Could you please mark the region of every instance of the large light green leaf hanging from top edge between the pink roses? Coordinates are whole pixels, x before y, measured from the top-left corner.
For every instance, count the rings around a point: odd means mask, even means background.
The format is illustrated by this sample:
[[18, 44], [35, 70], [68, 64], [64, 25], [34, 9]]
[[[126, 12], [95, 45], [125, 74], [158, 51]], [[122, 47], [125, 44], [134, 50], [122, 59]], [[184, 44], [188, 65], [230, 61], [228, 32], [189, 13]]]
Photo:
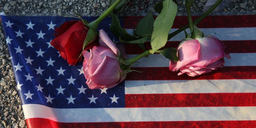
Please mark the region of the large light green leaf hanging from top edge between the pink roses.
[[172, 0], [164, 0], [163, 9], [154, 21], [154, 30], [151, 37], [153, 53], [166, 45], [176, 13], [177, 4]]

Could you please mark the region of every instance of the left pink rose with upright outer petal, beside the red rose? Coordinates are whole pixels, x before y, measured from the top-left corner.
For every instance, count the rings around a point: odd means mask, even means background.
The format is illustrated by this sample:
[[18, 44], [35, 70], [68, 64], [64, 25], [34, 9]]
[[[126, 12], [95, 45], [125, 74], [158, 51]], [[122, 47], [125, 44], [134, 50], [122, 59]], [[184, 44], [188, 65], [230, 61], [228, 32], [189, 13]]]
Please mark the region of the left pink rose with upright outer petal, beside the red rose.
[[90, 89], [112, 88], [124, 80], [119, 66], [120, 51], [104, 30], [99, 31], [99, 46], [84, 50], [83, 70]]

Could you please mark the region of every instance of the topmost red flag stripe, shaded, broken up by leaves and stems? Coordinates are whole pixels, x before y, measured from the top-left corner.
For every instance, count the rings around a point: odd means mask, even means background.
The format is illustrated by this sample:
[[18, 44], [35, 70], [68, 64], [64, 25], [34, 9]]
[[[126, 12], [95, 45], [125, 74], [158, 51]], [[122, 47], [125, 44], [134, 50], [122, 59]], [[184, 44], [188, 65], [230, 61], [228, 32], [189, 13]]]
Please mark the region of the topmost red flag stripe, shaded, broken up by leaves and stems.
[[[135, 29], [142, 16], [124, 17], [124, 28]], [[197, 19], [199, 16], [192, 16]], [[196, 26], [199, 28], [238, 28], [256, 27], [256, 15], [215, 15], [207, 16]], [[176, 16], [172, 28], [179, 29], [188, 24], [187, 16]]]

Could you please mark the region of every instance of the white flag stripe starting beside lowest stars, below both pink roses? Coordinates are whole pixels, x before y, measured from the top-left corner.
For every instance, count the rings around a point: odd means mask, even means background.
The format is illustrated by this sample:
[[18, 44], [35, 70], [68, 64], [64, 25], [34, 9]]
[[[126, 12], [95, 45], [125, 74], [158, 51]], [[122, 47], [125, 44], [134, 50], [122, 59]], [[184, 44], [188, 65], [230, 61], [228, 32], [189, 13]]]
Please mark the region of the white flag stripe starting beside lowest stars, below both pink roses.
[[125, 94], [256, 93], [256, 79], [126, 80]]

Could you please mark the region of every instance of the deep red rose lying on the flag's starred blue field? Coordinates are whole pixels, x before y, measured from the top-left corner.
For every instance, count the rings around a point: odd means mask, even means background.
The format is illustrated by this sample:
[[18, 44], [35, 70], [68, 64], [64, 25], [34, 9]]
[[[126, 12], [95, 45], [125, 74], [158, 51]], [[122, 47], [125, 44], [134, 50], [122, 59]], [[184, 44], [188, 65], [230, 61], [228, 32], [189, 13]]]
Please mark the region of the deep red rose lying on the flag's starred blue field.
[[[51, 45], [60, 52], [68, 64], [75, 65], [82, 60], [83, 44], [89, 28], [79, 20], [64, 22], [59, 28], [55, 28], [55, 39]], [[88, 44], [85, 50], [97, 45], [97, 39]], [[81, 55], [81, 56], [80, 56]]]

